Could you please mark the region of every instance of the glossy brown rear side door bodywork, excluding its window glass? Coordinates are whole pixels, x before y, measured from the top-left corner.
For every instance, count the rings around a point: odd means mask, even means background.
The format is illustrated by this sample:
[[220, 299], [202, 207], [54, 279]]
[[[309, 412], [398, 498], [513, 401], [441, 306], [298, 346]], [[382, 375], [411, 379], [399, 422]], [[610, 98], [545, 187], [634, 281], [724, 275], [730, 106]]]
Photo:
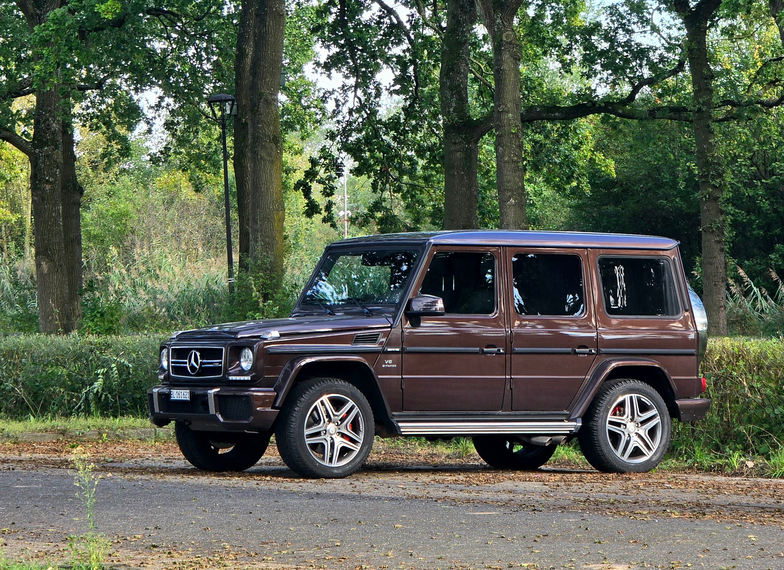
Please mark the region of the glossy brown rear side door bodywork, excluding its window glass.
[[548, 249], [547, 254], [569, 254], [580, 259], [585, 306], [579, 316], [520, 315], [514, 309], [512, 259], [517, 254], [543, 250], [506, 247], [506, 287], [512, 331], [512, 409], [565, 411], [585, 381], [597, 354], [597, 330], [588, 252], [583, 249]]

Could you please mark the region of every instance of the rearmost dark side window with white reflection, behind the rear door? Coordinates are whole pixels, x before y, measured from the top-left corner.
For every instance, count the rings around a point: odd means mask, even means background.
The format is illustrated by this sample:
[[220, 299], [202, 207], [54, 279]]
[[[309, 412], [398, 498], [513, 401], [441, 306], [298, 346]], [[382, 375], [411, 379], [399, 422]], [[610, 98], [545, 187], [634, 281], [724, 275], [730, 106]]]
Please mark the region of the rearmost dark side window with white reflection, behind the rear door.
[[619, 316], [677, 316], [673, 270], [665, 258], [599, 258], [604, 310]]

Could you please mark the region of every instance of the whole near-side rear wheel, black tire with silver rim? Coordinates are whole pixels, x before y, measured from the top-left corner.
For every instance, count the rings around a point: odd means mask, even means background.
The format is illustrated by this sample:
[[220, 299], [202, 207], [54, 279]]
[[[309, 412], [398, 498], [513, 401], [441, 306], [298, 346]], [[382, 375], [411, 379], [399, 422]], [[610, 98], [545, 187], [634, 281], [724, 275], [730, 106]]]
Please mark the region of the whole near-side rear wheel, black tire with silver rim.
[[[634, 400], [624, 402], [622, 399], [626, 396]], [[646, 414], [652, 414], [654, 408], [658, 413], [658, 425], [655, 424], [655, 415], [637, 421]], [[630, 411], [628, 419], [627, 411]], [[611, 414], [615, 419], [608, 422]], [[612, 429], [608, 427], [611, 423]], [[659, 465], [670, 449], [671, 424], [662, 396], [651, 385], [619, 378], [601, 385], [583, 415], [583, 426], [577, 433], [577, 439], [583, 455], [597, 470], [604, 473], [644, 473]], [[619, 451], [616, 452], [616, 449]], [[624, 459], [624, 455], [628, 455], [629, 459]]]

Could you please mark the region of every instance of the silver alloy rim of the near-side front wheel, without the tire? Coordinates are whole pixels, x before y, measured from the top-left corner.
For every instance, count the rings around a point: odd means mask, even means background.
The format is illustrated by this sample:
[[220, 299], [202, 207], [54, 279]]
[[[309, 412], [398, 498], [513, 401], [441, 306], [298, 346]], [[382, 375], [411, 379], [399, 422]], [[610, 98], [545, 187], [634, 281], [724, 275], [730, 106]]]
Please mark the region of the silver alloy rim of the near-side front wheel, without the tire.
[[365, 422], [354, 400], [342, 394], [321, 396], [305, 418], [305, 444], [310, 455], [328, 467], [346, 465], [365, 440]]

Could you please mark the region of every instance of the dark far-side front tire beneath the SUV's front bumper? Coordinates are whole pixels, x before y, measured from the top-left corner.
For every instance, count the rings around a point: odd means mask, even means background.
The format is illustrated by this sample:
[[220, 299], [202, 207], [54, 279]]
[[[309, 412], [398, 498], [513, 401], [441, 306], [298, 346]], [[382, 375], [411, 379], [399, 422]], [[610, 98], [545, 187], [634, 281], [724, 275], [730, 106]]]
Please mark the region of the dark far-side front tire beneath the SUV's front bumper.
[[271, 433], [201, 432], [185, 422], [174, 424], [174, 434], [185, 459], [205, 471], [245, 471], [256, 465]]

